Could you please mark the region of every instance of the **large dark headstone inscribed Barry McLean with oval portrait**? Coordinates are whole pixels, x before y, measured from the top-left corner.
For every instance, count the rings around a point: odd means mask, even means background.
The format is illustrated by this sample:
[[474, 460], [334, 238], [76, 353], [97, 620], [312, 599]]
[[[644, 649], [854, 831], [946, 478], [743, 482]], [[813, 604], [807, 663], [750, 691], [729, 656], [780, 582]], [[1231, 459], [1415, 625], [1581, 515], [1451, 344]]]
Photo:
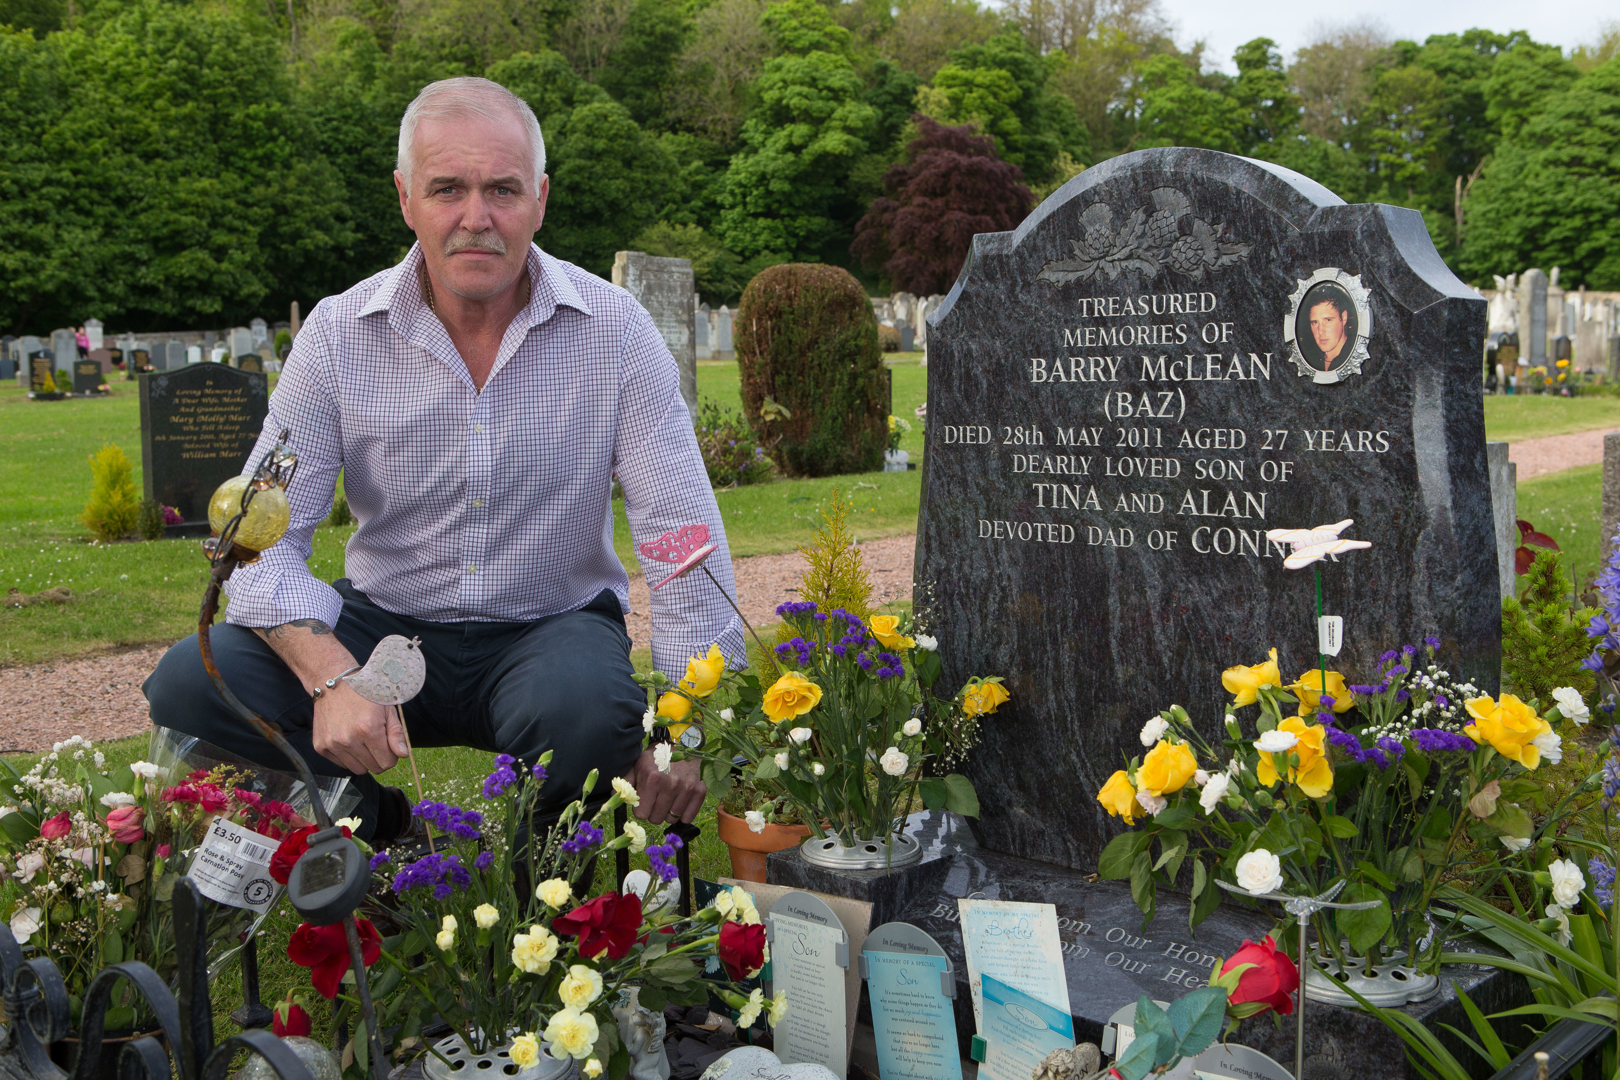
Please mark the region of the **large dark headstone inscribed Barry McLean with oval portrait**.
[[969, 764], [985, 847], [1095, 870], [1145, 719], [1218, 740], [1223, 669], [1314, 665], [1312, 573], [1267, 529], [1372, 542], [1322, 568], [1351, 682], [1434, 635], [1495, 693], [1484, 321], [1414, 210], [1213, 151], [1111, 159], [974, 238], [930, 316], [917, 585], [943, 685], [1013, 695]]

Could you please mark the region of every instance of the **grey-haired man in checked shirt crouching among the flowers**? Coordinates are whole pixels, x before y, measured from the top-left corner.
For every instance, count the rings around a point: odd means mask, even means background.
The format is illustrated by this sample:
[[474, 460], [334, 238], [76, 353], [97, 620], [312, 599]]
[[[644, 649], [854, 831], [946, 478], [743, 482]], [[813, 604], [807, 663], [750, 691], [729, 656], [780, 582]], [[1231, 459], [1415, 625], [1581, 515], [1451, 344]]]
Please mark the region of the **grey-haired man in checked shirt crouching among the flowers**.
[[[659, 772], [642, 750], [614, 478], [637, 541], [706, 523], [719, 544], [708, 565], [729, 589], [726, 534], [651, 317], [533, 243], [544, 167], [539, 123], [510, 91], [473, 78], [423, 89], [400, 121], [394, 173], [416, 244], [309, 313], [248, 458], [251, 470], [292, 431], [292, 526], [237, 570], [214, 654], [314, 772], [355, 780], [358, 834], [376, 845], [410, 831], [405, 795], [373, 776], [405, 756], [407, 730], [413, 746], [526, 763], [554, 750], [543, 814], [575, 798], [590, 769], [629, 776], [650, 821], [692, 821], [703, 803], [697, 763]], [[340, 470], [360, 528], [348, 576], [326, 585], [306, 559]], [[714, 641], [744, 656], [737, 617], [706, 578], [653, 596], [664, 672], [679, 677]], [[420, 638], [428, 659], [403, 730], [340, 678], [387, 635]], [[144, 690], [154, 724], [287, 767], [220, 701], [194, 636]]]

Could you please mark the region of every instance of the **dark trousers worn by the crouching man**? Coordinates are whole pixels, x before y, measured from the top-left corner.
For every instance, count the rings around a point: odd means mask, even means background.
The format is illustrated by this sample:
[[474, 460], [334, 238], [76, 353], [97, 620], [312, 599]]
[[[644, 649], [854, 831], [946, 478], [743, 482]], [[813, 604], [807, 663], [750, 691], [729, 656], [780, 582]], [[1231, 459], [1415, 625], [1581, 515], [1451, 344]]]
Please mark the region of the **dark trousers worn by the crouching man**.
[[[630, 638], [619, 601], [603, 591], [580, 610], [535, 622], [424, 622], [373, 604], [348, 578], [334, 581], [343, 614], [332, 628], [361, 664], [390, 633], [421, 638], [428, 682], [405, 703], [413, 748], [473, 746], [533, 761], [556, 751], [536, 818], [556, 816], [580, 797], [591, 769], [624, 776], [642, 753], [646, 691], [635, 685]], [[316, 753], [314, 701], [266, 641], [243, 627], [215, 625], [209, 635], [225, 683], [243, 704], [282, 729], [318, 776], [347, 776], [360, 790], [360, 837], [377, 823], [381, 785]], [[334, 675], [337, 672], [332, 672]], [[196, 635], [164, 654], [143, 685], [154, 724], [194, 735], [248, 761], [290, 769], [275, 746], [232, 712], [202, 669]], [[420, 764], [420, 763], [418, 763]], [[491, 769], [494, 766], [491, 764]], [[405, 780], [411, 801], [413, 784]], [[436, 777], [423, 774], [428, 787]]]

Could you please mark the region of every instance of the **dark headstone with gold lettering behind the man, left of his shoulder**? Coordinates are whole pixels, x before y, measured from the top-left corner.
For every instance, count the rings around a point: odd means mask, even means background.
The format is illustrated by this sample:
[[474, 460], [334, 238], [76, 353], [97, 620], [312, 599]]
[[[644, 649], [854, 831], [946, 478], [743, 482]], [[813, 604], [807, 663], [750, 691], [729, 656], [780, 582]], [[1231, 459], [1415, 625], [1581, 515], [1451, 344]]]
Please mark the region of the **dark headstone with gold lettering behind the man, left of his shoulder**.
[[269, 413], [266, 376], [194, 364], [141, 377], [146, 497], [175, 507], [177, 531], [207, 528], [207, 500], [241, 465]]

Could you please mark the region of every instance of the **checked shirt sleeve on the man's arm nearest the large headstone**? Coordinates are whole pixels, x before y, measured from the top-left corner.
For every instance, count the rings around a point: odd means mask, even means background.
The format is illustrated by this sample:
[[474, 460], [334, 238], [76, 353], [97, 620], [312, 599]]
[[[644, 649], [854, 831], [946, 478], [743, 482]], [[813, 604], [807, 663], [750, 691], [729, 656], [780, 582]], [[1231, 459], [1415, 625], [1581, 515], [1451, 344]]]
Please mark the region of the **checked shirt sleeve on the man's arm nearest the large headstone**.
[[[680, 398], [676, 361], [651, 317], [640, 309], [625, 329], [614, 471], [624, 487], [624, 512], [648, 586], [658, 585], [674, 567], [643, 555], [643, 542], [701, 521], [710, 529], [710, 541], [718, 544], [703, 563], [714, 581], [693, 570], [651, 594], [653, 664], [679, 678], [688, 656], [703, 656], [710, 644], [719, 644], [732, 667], [744, 667], [742, 622], [726, 601], [735, 596], [726, 525], [692, 432], [692, 416]], [[716, 581], [726, 596], [714, 588]]]

